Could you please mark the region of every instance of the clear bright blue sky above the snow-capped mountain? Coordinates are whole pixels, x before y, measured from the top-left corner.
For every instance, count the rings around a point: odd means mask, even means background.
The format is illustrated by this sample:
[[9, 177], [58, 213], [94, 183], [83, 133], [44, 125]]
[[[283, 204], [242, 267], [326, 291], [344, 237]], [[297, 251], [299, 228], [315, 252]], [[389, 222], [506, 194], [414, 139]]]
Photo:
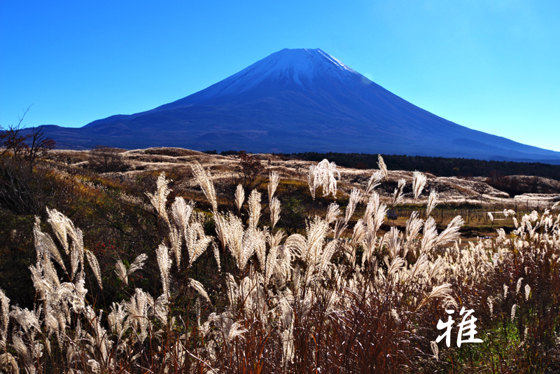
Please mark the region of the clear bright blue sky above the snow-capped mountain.
[[459, 125], [560, 151], [560, 1], [1, 1], [0, 125], [80, 127], [321, 48]]

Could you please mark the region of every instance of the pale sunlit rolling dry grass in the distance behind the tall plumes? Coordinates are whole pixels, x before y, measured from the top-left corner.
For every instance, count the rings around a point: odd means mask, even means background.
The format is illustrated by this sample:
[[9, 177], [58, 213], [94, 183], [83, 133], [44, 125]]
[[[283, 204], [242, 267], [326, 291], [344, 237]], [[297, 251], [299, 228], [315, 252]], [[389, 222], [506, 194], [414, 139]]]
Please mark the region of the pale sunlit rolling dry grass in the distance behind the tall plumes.
[[[72, 167], [87, 167], [90, 151], [52, 151], [52, 159], [64, 162], [66, 165]], [[183, 148], [148, 148], [133, 151], [122, 151], [124, 162], [128, 165], [127, 171], [109, 173], [123, 176], [125, 179], [134, 179], [139, 174], [146, 172], [161, 172], [165, 171], [167, 174], [176, 170], [186, 169], [188, 172], [188, 165], [190, 162], [197, 161], [200, 164], [211, 170], [211, 176], [214, 183], [228, 183], [231, 181], [232, 176], [235, 174], [235, 168], [239, 167], [239, 156], [237, 155], [210, 155], [207, 153], [190, 151]], [[310, 165], [316, 162], [302, 161], [302, 160], [286, 160], [277, 155], [269, 154], [255, 154], [262, 165], [265, 166], [266, 172], [278, 172], [282, 179], [293, 179], [297, 181], [305, 181], [307, 178], [307, 170]], [[339, 191], [342, 193], [349, 193], [352, 188], [363, 187], [370, 178], [372, 171], [364, 169], [351, 169], [339, 167], [341, 177], [339, 179]], [[386, 186], [381, 186], [381, 197], [386, 197], [393, 193], [391, 183], [395, 183], [398, 179], [405, 179], [407, 184], [412, 182], [412, 172], [402, 172], [398, 170], [388, 170], [388, 180]], [[437, 177], [433, 174], [427, 174], [428, 183], [424, 193], [421, 195], [421, 201], [425, 202], [428, 198], [430, 189], [435, 189], [440, 195], [440, 200], [449, 203], [462, 203], [468, 202], [472, 204], [481, 203], [481, 193], [477, 192], [479, 187], [477, 183], [483, 183], [484, 191], [482, 193], [482, 204], [493, 206], [500, 205], [505, 207], [512, 207], [524, 204], [528, 205], [530, 209], [544, 209], [550, 207], [554, 202], [560, 200], [560, 193], [558, 194], [537, 194], [526, 193], [524, 195], [517, 195], [514, 198], [502, 191], [496, 190], [484, 183], [482, 177], [472, 177], [470, 179], [460, 177]], [[536, 179], [538, 184], [549, 186], [560, 191], [560, 181], [547, 179], [542, 177], [532, 176], [515, 176], [520, 181], [527, 184], [534, 183]], [[193, 182], [194, 183], [194, 182]], [[426, 190], [428, 192], [426, 192]], [[410, 194], [408, 194], [410, 195]], [[410, 196], [405, 196], [403, 204], [412, 203]]]

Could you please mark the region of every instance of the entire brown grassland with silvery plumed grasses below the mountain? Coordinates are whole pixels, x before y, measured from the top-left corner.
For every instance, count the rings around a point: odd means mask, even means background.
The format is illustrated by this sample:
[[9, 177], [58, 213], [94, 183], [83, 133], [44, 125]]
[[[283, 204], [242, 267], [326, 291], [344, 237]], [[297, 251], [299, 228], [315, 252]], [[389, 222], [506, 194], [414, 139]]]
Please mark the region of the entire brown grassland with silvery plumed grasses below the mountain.
[[[560, 370], [557, 195], [381, 159], [148, 148], [101, 173], [105, 156], [1, 160], [0, 370]], [[436, 343], [461, 307], [483, 342]]]

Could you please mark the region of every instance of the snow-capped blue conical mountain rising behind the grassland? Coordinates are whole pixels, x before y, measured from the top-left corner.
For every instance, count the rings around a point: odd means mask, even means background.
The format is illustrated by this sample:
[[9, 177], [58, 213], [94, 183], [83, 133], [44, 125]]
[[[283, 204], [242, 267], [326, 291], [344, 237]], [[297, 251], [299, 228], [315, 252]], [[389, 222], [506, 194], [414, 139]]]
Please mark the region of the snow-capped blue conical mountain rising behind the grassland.
[[80, 128], [48, 125], [61, 148], [344, 152], [560, 163], [560, 152], [425, 111], [325, 53], [283, 49], [176, 102]]

